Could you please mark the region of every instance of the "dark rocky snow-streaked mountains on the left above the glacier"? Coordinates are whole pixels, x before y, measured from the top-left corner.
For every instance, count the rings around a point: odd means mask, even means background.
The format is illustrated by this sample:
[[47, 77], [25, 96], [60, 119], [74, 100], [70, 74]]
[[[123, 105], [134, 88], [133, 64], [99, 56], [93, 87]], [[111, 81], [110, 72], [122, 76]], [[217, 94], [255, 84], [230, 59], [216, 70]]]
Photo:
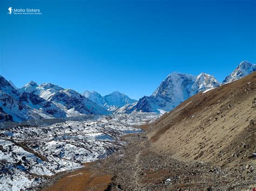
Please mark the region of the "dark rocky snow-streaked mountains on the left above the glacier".
[[16, 90], [0, 76], [0, 122], [108, 113], [73, 90], [50, 83], [37, 85], [34, 81]]

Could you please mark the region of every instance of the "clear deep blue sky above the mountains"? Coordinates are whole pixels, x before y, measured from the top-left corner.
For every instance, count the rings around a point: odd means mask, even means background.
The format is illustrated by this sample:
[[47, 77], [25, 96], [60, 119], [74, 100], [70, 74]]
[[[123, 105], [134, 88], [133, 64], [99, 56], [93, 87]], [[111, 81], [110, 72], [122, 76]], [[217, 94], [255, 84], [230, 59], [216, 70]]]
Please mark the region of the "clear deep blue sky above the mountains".
[[[171, 72], [223, 80], [256, 63], [256, 1], [0, 1], [0, 74], [78, 92], [150, 95]], [[8, 15], [8, 8], [43, 15]]]

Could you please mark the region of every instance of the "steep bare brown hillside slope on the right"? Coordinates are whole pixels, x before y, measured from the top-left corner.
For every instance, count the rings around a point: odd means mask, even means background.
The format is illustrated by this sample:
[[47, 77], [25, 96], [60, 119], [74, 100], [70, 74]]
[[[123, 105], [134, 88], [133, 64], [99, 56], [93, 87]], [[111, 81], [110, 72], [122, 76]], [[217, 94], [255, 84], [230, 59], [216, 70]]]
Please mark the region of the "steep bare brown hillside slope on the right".
[[153, 124], [148, 134], [152, 148], [184, 161], [238, 166], [238, 170], [245, 163], [255, 166], [255, 102], [256, 72], [198, 93]]

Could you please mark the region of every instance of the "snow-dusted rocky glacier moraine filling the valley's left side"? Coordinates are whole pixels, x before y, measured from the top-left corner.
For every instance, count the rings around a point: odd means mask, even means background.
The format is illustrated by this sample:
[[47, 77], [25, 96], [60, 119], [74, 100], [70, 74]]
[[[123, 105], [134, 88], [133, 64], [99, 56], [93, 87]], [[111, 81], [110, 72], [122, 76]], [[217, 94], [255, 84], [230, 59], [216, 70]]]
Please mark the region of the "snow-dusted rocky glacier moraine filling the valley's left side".
[[46, 176], [104, 159], [125, 144], [122, 135], [156, 120], [156, 113], [114, 114], [90, 121], [0, 131], [0, 190], [37, 186]]

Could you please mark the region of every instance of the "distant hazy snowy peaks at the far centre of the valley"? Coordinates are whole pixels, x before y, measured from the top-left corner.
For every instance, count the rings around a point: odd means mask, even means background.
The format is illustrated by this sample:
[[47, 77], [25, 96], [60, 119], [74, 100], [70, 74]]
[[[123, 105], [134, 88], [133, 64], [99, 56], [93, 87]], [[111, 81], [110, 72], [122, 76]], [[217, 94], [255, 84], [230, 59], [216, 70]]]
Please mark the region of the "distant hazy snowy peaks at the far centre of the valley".
[[102, 96], [96, 91], [90, 92], [86, 90], [83, 95], [94, 101], [96, 104], [105, 107], [109, 111], [116, 111], [118, 108], [126, 104], [133, 104], [137, 102], [137, 100], [131, 99], [124, 93], [120, 93], [118, 91]]

